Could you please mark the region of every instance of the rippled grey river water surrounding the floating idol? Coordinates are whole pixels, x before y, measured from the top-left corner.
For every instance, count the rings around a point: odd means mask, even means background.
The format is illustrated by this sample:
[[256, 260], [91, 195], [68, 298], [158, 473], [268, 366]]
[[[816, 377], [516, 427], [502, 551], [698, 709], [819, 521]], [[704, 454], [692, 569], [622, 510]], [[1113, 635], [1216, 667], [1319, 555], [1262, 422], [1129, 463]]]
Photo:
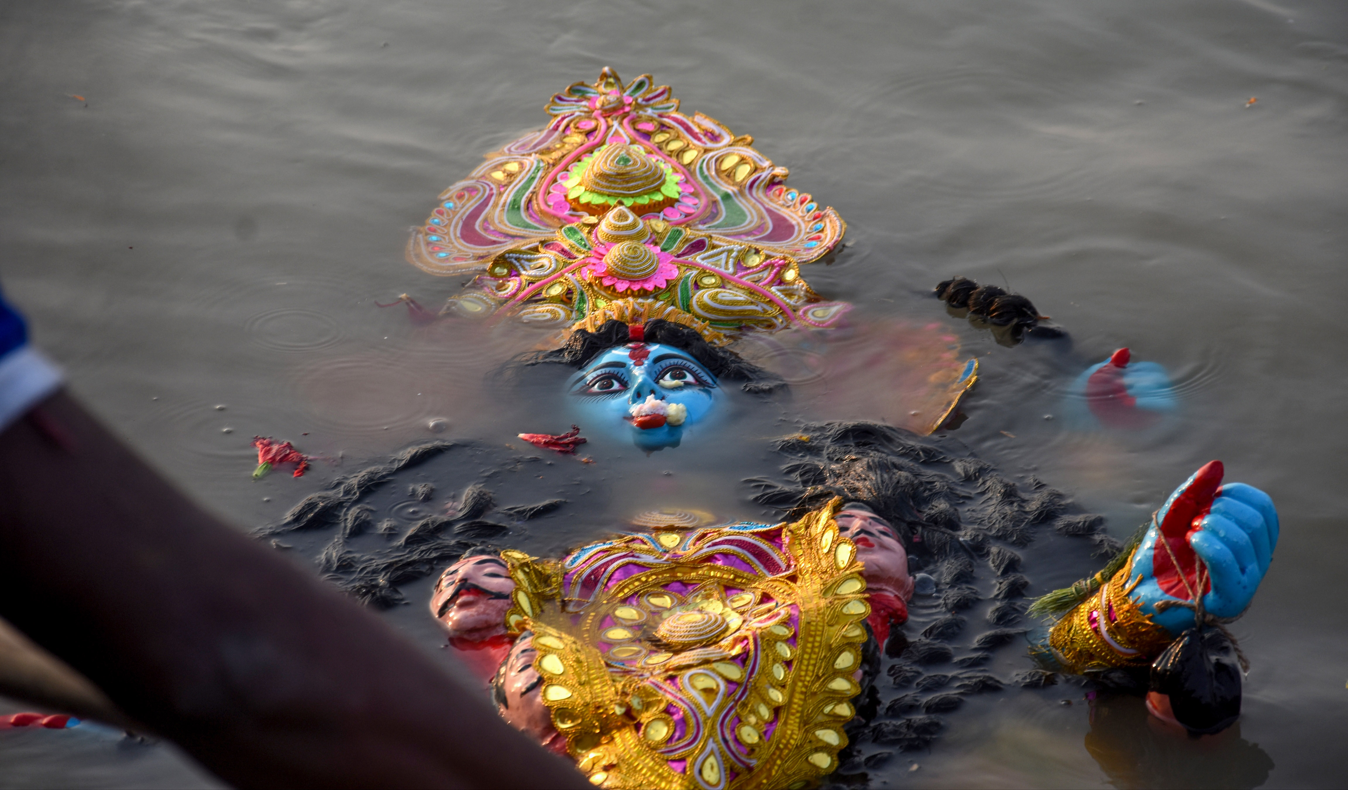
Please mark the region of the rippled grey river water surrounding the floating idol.
[[[512, 338], [414, 330], [375, 302], [438, 306], [457, 290], [403, 262], [408, 228], [605, 65], [754, 135], [841, 213], [851, 244], [806, 271], [817, 291], [864, 317], [941, 322], [980, 357], [957, 437], [981, 457], [1068, 492], [1117, 537], [1211, 458], [1279, 507], [1275, 562], [1233, 626], [1252, 663], [1239, 732], [1155, 740], [1140, 704], [1092, 713], [1070, 685], [985, 694], [930, 750], [857, 782], [1348, 782], [1343, 3], [8, 0], [7, 297], [93, 411], [241, 528], [427, 438], [435, 417], [499, 445], [563, 429], [520, 425], [524, 406], [477, 386]], [[1174, 425], [1105, 435], [1045, 419], [1072, 373], [946, 315], [926, 294], [956, 274], [1029, 295], [1072, 333], [1076, 371], [1124, 345], [1163, 364]], [[740, 480], [762, 453], [736, 448], [763, 435], [741, 423], [720, 449], [615, 464], [611, 512], [531, 545], [559, 549], [651, 499], [759, 514]], [[321, 460], [255, 483], [255, 434]], [[1053, 569], [1030, 592], [1086, 570]], [[388, 616], [435, 651], [427, 590], [410, 585], [415, 605]], [[0, 732], [0, 787], [212, 782], [164, 746]]]

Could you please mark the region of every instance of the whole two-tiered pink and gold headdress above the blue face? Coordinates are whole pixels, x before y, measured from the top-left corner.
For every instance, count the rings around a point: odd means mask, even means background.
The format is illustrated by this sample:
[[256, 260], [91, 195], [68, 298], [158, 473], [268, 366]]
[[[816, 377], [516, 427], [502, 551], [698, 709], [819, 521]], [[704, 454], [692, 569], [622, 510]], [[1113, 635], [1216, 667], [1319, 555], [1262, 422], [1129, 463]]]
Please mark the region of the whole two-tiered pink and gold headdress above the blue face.
[[648, 74], [624, 85], [607, 67], [547, 112], [546, 129], [489, 154], [412, 232], [412, 264], [483, 272], [446, 311], [570, 326], [644, 310], [724, 344], [741, 330], [832, 326], [849, 309], [799, 271], [847, 225], [789, 189], [752, 138], [679, 113]]

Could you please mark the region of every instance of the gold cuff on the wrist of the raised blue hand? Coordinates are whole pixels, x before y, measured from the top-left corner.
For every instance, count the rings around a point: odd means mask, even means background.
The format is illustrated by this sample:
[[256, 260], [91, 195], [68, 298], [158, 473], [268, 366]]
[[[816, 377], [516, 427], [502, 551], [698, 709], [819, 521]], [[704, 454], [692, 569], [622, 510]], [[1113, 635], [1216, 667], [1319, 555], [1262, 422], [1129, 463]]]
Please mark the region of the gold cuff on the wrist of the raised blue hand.
[[[1136, 549], [1134, 549], [1136, 554]], [[1068, 671], [1084, 674], [1115, 667], [1148, 666], [1174, 642], [1132, 600], [1142, 576], [1131, 582], [1132, 557], [1108, 582], [1077, 604], [1049, 631], [1049, 647]]]

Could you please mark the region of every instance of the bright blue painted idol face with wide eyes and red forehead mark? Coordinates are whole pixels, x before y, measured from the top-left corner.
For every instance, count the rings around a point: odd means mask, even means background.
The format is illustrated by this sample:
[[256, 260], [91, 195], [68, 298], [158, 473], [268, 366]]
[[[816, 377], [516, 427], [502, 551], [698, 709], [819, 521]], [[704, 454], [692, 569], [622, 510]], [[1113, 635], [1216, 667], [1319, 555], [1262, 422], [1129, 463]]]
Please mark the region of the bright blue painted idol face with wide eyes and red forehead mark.
[[586, 425], [643, 450], [677, 448], [683, 431], [712, 414], [720, 390], [686, 352], [630, 342], [599, 355], [570, 382]]

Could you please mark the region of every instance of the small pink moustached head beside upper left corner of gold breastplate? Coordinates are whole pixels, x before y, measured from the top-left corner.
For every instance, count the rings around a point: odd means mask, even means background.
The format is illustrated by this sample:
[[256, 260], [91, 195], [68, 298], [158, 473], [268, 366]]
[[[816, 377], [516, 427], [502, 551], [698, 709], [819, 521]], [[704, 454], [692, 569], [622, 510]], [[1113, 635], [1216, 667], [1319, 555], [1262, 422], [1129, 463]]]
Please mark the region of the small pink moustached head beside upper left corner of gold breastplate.
[[450, 638], [480, 642], [506, 632], [515, 580], [500, 557], [465, 557], [435, 584], [430, 611]]

